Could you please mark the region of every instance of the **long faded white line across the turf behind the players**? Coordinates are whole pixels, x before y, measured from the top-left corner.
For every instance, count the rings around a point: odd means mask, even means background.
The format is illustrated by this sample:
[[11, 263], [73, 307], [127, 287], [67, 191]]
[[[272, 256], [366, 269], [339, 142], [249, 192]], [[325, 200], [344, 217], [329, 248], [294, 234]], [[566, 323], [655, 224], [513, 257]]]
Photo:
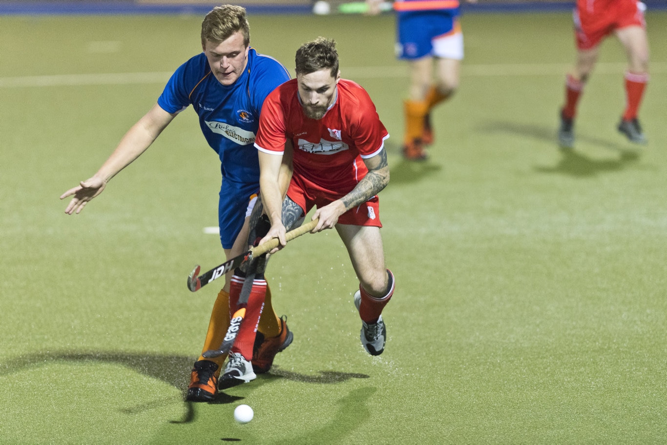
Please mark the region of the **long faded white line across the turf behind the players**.
[[[617, 74], [626, 70], [626, 63], [600, 62], [594, 73]], [[572, 68], [566, 63], [506, 63], [498, 65], [466, 65], [461, 67], [462, 77], [498, 77], [498, 76], [562, 76]], [[652, 74], [667, 73], [666, 62], [651, 63]], [[0, 77], [0, 88], [16, 87], [67, 87], [82, 85], [133, 85], [144, 83], [167, 82], [172, 73], [105, 73], [105, 74], [69, 74], [46, 76]], [[392, 79], [408, 77], [407, 65], [390, 67], [343, 67], [342, 77], [348, 79]]]

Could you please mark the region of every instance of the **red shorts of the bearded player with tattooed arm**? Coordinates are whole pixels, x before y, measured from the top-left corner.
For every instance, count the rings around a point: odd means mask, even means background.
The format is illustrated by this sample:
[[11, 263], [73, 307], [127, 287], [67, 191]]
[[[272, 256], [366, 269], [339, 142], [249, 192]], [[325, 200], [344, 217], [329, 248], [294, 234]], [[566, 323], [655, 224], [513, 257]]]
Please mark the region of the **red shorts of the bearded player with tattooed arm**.
[[[333, 203], [337, 199], [341, 199], [347, 194], [348, 192], [342, 193], [340, 191], [323, 189], [299, 175], [292, 177], [287, 189], [289, 199], [297, 203], [303, 209], [304, 214], [308, 213], [313, 206], [317, 206], [319, 209]], [[382, 227], [382, 223], [380, 222], [380, 199], [378, 195], [375, 195], [366, 201], [366, 203], [358, 205], [354, 209], [350, 209], [343, 215], [340, 215], [338, 223], [353, 226]]]

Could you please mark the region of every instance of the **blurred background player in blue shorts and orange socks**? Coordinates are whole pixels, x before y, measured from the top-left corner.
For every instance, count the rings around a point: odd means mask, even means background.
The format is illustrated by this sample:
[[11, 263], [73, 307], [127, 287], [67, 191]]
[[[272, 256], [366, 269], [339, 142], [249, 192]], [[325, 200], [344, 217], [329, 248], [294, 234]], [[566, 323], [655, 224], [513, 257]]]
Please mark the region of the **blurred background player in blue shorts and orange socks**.
[[[377, 14], [385, 2], [366, 3], [369, 13]], [[425, 146], [434, 142], [431, 111], [458, 88], [464, 56], [459, 7], [458, 0], [394, 2], [398, 13], [397, 55], [410, 65], [410, 89], [404, 101], [406, 159], [420, 161], [428, 157]]]

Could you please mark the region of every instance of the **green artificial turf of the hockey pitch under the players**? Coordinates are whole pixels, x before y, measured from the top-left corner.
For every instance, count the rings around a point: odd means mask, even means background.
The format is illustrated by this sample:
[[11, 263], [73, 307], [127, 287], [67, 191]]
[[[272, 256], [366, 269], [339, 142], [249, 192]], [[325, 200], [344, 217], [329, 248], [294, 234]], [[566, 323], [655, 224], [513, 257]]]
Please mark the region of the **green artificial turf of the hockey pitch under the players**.
[[[301, 43], [336, 39], [343, 77], [392, 135], [386, 351], [360, 346], [336, 232], [309, 234], [267, 272], [293, 344], [270, 374], [183, 402], [219, 290], [193, 294], [185, 278], [223, 258], [203, 233], [219, 161], [195, 113], [80, 215], [58, 197], [201, 50], [201, 17], [0, 17], [0, 443], [664, 443], [667, 15], [647, 15], [649, 145], [615, 130], [624, 53], [611, 39], [568, 152], [555, 134], [570, 15], [464, 16], [460, 90], [434, 112], [424, 163], [400, 156], [408, 77], [391, 15], [249, 19], [251, 44], [291, 71]], [[48, 77], [109, 73], [147, 74]], [[233, 421], [240, 403], [249, 424]]]

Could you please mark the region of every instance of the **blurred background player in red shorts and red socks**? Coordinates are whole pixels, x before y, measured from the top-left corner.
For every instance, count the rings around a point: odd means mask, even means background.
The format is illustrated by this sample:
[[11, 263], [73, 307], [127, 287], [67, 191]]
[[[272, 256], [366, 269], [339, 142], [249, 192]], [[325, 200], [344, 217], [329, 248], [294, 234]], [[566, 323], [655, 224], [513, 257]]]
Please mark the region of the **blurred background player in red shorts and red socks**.
[[648, 83], [648, 39], [644, 3], [637, 0], [577, 0], [574, 30], [577, 60], [566, 78], [565, 105], [560, 110], [558, 141], [561, 147], [574, 146], [574, 118], [577, 103], [598, 60], [600, 43], [616, 35], [628, 54], [625, 73], [626, 108], [618, 131], [633, 143], [645, 144], [646, 137], [637, 118]]

